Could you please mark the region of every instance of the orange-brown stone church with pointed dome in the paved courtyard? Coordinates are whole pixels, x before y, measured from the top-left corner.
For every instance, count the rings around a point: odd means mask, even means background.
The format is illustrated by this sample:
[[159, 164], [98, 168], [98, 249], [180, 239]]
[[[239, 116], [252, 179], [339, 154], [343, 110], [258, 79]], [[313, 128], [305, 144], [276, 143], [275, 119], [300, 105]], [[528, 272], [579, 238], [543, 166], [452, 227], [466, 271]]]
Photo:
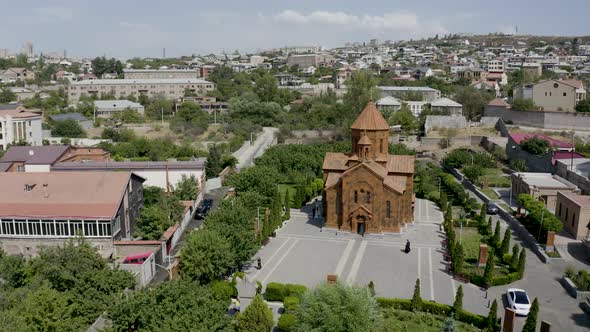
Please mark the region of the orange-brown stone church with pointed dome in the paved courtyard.
[[373, 102], [351, 126], [352, 153], [326, 153], [326, 228], [399, 233], [414, 221], [414, 156], [390, 155], [389, 124]]

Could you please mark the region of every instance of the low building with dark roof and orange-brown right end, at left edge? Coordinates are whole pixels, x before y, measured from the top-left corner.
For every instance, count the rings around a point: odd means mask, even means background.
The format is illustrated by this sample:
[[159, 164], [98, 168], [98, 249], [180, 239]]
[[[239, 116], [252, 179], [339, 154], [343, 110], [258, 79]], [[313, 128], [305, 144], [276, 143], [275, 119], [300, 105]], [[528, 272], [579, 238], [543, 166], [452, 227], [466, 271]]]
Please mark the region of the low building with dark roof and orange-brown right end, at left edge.
[[11, 146], [0, 158], [0, 172], [49, 172], [58, 162], [110, 161], [102, 148], [67, 145]]

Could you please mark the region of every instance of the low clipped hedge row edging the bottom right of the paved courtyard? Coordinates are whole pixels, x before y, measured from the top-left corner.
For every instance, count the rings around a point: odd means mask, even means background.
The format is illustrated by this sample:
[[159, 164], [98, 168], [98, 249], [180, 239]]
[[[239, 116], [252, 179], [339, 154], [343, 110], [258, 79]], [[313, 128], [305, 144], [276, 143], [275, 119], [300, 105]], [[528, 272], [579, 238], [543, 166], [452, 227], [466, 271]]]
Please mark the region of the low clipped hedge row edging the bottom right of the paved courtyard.
[[[406, 310], [411, 311], [410, 308], [410, 300], [409, 299], [395, 299], [395, 298], [383, 298], [377, 297], [377, 303], [382, 309], [398, 309], [398, 310]], [[447, 304], [437, 303], [433, 301], [422, 301], [422, 310], [423, 312], [428, 312], [433, 315], [438, 316], [449, 316], [453, 311], [453, 307]], [[483, 329], [487, 327], [487, 317], [480, 316], [471, 312], [467, 312], [461, 310], [455, 313], [455, 319], [466, 323], [471, 324], [477, 328]]]

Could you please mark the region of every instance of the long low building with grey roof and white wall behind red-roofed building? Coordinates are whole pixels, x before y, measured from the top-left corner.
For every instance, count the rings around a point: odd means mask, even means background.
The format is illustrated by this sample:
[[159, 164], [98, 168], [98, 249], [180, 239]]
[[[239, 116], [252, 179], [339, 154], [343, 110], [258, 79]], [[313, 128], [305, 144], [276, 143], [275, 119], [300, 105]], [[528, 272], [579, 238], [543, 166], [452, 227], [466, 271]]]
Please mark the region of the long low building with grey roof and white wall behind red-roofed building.
[[183, 176], [194, 176], [204, 188], [206, 158], [189, 161], [88, 161], [60, 162], [51, 166], [52, 172], [133, 172], [145, 179], [145, 186], [173, 190]]

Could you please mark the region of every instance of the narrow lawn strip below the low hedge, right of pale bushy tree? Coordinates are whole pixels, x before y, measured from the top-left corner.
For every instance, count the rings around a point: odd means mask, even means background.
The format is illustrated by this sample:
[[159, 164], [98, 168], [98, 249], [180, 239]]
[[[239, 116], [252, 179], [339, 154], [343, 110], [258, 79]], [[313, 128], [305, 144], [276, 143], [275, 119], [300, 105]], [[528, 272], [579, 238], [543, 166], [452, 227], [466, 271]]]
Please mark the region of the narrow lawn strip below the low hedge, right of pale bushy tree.
[[[405, 310], [386, 309], [383, 311], [384, 332], [439, 332], [444, 326], [446, 317], [425, 312], [411, 312]], [[479, 332], [480, 329], [455, 321], [456, 331]]]

